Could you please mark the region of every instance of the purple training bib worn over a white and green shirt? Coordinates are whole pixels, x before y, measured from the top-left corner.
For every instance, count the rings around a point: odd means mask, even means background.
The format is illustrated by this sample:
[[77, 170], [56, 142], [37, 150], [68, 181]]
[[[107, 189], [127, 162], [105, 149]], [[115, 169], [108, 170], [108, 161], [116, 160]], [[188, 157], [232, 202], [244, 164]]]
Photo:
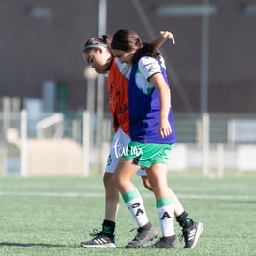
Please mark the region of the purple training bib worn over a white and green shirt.
[[[147, 60], [154, 60], [152, 65], [156, 66], [156, 59], [147, 58]], [[139, 60], [140, 62], [140, 60]], [[170, 106], [170, 112], [168, 116], [169, 123], [172, 128], [172, 133], [161, 138], [158, 134], [159, 128], [159, 114], [160, 114], [160, 99], [159, 92], [154, 86], [146, 92], [139, 88], [136, 84], [136, 73], [138, 72], [137, 62], [131, 69], [129, 83], [128, 83], [128, 106], [129, 106], [129, 130], [130, 138], [132, 141], [141, 143], [176, 143], [175, 128], [173, 125], [173, 113]], [[143, 68], [152, 68], [152, 65], [144, 66]], [[166, 69], [162, 66], [160, 60], [157, 65], [160, 66], [160, 72], [162, 73], [167, 84]], [[147, 81], [148, 77], [144, 77]]]

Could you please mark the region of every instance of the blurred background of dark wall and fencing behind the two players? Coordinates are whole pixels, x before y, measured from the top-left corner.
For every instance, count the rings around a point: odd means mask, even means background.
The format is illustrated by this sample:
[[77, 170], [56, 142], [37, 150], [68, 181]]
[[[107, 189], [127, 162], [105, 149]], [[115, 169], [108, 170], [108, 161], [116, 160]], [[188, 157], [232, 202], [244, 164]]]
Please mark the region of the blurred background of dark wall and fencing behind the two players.
[[87, 39], [161, 30], [179, 143], [170, 170], [256, 171], [255, 0], [1, 0], [1, 175], [102, 173], [113, 139]]

